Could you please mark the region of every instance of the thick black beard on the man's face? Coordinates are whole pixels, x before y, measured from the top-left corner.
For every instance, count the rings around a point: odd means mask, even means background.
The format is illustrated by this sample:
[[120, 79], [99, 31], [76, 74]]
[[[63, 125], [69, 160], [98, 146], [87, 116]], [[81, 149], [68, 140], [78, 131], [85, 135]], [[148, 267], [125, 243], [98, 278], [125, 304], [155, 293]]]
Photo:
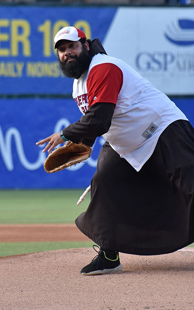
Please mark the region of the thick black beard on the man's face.
[[[68, 61], [68, 59], [73, 59]], [[87, 49], [82, 47], [82, 51], [79, 56], [77, 55], [69, 55], [65, 59], [65, 61], [59, 61], [59, 66], [63, 72], [63, 74], [67, 78], [79, 79], [81, 74], [83, 74], [86, 70], [88, 70], [89, 65], [91, 63], [92, 57], [89, 55]]]

